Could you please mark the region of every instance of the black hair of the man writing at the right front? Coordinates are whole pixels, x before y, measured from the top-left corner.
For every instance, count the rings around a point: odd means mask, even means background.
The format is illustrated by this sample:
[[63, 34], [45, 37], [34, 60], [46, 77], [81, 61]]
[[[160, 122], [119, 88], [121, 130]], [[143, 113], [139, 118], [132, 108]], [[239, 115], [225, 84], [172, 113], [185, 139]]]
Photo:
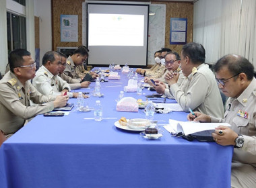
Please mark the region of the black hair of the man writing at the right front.
[[254, 77], [253, 64], [251, 64], [251, 62], [249, 62], [249, 60], [247, 60], [247, 58], [243, 56], [238, 56], [235, 54], [228, 54], [226, 56], [223, 56], [214, 65], [214, 71], [217, 73], [224, 66], [228, 68], [228, 71], [230, 71], [232, 75], [245, 73], [249, 81], [251, 81]]

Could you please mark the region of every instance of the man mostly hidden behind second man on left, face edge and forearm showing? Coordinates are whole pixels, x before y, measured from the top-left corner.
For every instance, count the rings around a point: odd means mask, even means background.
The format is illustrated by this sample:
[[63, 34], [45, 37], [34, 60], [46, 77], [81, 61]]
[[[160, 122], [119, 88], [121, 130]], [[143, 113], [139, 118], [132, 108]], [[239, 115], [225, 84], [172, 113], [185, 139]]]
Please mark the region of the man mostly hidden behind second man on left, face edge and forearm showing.
[[69, 86], [71, 87], [71, 89], [79, 89], [79, 88], [88, 87], [90, 85], [89, 81], [84, 81], [84, 82], [80, 83], [80, 81], [78, 81], [77, 79], [72, 79], [71, 77], [63, 74], [63, 72], [66, 68], [66, 64], [67, 64], [67, 56], [61, 52], [58, 52], [58, 53], [61, 56], [61, 71], [59, 71], [59, 77], [61, 77], [61, 79], [66, 81], [69, 84]]

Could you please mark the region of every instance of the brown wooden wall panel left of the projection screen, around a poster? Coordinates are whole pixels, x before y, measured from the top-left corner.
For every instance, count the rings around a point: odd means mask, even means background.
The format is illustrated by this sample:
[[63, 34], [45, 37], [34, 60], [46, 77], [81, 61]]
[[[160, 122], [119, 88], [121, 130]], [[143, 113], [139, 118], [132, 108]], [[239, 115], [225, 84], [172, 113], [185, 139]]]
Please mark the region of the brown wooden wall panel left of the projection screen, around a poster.
[[[52, 0], [53, 50], [57, 46], [82, 45], [82, 3], [84, 0]], [[78, 42], [61, 42], [61, 14], [78, 15]]]

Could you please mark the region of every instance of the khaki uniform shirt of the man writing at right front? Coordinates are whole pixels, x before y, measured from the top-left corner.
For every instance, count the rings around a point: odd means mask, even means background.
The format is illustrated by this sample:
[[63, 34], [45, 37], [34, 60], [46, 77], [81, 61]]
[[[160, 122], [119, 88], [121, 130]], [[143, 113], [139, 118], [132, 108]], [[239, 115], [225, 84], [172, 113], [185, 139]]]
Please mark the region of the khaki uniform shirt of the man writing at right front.
[[[226, 122], [237, 134], [242, 134], [245, 143], [242, 148], [234, 148], [233, 162], [251, 164], [256, 167], [256, 79], [236, 99], [229, 98], [226, 103], [224, 119], [212, 118], [212, 122]], [[241, 110], [247, 112], [247, 117]], [[256, 170], [256, 169], [255, 169]]]

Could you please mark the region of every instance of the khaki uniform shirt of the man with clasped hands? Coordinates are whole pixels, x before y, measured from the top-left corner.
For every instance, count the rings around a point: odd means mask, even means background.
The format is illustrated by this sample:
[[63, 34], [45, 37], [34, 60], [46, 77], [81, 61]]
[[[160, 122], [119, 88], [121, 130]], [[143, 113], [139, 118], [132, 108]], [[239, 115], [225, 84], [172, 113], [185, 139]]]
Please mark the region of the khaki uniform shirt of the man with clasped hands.
[[181, 85], [170, 86], [170, 93], [184, 111], [192, 110], [222, 118], [224, 106], [220, 89], [216, 83], [214, 73], [207, 64], [200, 64], [197, 69], [186, 77]]

